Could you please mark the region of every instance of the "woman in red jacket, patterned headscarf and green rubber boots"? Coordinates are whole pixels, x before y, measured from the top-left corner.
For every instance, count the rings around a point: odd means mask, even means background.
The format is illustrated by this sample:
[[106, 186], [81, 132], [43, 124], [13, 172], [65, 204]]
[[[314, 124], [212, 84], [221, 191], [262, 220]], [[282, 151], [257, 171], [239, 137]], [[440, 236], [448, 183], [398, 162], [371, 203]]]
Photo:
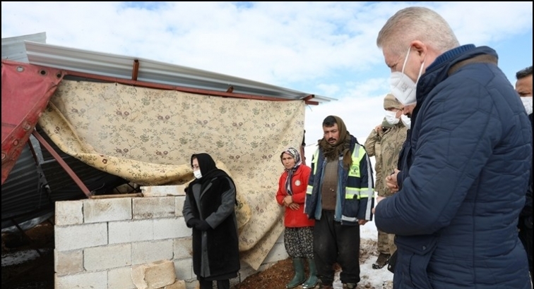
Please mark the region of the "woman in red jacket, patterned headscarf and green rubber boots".
[[[295, 276], [286, 288], [314, 288], [318, 279], [314, 262], [314, 219], [304, 214], [304, 200], [311, 168], [302, 164], [297, 149], [290, 147], [280, 154], [284, 172], [278, 182], [276, 201], [285, 208], [284, 245], [293, 261]], [[304, 273], [304, 259], [308, 259], [309, 277]]]

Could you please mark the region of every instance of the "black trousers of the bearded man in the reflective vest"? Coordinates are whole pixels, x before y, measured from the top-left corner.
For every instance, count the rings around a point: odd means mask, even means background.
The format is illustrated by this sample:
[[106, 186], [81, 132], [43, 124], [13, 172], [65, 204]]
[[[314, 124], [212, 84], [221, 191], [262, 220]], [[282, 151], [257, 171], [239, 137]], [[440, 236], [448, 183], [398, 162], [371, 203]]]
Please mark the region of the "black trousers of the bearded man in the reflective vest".
[[324, 285], [332, 285], [333, 264], [341, 266], [341, 283], [360, 282], [360, 226], [334, 221], [334, 211], [323, 210], [315, 221], [314, 259], [317, 276]]

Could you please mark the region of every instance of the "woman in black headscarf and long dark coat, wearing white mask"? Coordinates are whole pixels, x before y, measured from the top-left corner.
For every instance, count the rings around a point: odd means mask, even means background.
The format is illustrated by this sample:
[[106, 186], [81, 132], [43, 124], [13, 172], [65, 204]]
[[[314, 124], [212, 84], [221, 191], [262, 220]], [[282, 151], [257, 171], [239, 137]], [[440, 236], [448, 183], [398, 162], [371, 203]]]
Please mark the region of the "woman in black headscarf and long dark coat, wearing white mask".
[[196, 179], [186, 188], [182, 213], [193, 228], [193, 270], [201, 289], [213, 288], [213, 281], [230, 289], [240, 267], [235, 184], [209, 154], [193, 154], [191, 168]]

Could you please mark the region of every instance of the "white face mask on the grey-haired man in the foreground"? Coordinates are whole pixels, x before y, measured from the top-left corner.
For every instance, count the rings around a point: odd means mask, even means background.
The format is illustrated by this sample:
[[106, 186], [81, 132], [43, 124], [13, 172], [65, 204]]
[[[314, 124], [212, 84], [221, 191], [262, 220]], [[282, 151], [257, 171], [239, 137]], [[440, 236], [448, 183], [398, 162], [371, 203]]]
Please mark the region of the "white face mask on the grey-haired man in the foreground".
[[406, 53], [406, 58], [404, 59], [402, 72], [396, 71], [391, 73], [391, 76], [389, 77], [391, 94], [393, 94], [393, 96], [403, 105], [415, 104], [417, 102], [415, 89], [417, 87], [417, 81], [419, 81], [419, 78], [421, 77], [422, 68], [425, 66], [425, 61], [423, 61], [421, 63], [421, 67], [419, 68], [419, 75], [417, 76], [416, 82], [413, 82], [408, 75], [404, 74], [406, 62], [408, 62], [408, 56], [410, 56], [410, 49], [411, 47], [408, 47], [408, 53]]

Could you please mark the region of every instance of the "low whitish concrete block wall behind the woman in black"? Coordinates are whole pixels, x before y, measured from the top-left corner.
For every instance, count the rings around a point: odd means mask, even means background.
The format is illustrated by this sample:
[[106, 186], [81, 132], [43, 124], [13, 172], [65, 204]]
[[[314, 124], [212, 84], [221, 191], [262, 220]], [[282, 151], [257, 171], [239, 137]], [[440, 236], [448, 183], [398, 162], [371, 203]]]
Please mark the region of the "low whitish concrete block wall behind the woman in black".
[[[184, 197], [124, 197], [56, 202], [54, 288], [136, 289], [131, 267], [172, 260], [177, 279], [194, 288], [191, 229]], [[287, 258], [283, 236], [258, 271]], [[243, 281], [256, 270], [242, 264]]]

